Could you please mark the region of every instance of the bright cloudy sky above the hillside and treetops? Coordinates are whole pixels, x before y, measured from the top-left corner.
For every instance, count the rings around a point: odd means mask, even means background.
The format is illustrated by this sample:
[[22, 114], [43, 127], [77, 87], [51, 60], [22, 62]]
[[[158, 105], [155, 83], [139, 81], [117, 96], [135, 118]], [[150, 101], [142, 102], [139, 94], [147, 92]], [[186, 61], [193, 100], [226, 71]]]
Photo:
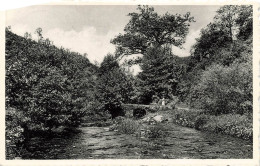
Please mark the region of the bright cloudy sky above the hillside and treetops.
[[[25, 32], [34, 35], [35, 29], [43, 29], [43, 37], [56, 46], [69, 48], [81, 54], [87, 53], [91, 62], [101, 62], [107, 53], [114, 53], [110, 40], [123, 33], [129, 21], [128, 13], [137, 6], [31, 6], [6, 12], [6, 26], [23, 36]], [[201, 28], [213, 20], [220, 6], [154, 6], [159, 14], [185, 14], [191, 12], [196, 22], [190, 26], [185, 49], [173, 48], [179, 56], [189, 56], [195, 38]]]

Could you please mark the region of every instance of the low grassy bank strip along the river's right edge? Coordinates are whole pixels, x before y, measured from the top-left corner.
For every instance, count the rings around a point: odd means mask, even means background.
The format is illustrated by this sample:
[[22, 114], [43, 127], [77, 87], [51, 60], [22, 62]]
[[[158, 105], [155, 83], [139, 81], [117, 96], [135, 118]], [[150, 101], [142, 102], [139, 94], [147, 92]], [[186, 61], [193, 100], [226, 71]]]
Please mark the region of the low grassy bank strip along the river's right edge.
[[249, 115], [222, 114], [209, 115], [202, 110], [174, 109], [171, 112], [174, 123], [181, 126], [196, 128], [232, 135], [242, 139], [253, 139], [253, 119]]

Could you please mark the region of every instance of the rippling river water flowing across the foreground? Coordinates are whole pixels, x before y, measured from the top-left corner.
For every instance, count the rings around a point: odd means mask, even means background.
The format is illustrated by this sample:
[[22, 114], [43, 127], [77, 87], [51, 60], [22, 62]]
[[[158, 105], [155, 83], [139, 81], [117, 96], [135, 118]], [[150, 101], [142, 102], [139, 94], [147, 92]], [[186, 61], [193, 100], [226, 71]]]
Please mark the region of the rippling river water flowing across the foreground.
[[165, 124], [158, 139], [119, 134], [104, 127], [81, 127], [80, 132], [49, 139], [34, 138], [24, 159], [235, 159], [252, 158], [252, 142]]

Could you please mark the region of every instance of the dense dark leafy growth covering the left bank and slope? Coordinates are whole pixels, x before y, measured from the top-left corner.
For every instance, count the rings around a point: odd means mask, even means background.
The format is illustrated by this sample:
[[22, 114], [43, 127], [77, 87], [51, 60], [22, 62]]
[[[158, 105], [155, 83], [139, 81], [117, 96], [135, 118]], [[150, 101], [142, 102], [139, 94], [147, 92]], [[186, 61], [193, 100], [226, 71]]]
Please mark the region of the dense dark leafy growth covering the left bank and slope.
[[17, 130], [10, 120], [23, 136], [80, 124], [93, 98], [96, 71], [86, 57], [6, 29], [5, 58], [7, 133]]

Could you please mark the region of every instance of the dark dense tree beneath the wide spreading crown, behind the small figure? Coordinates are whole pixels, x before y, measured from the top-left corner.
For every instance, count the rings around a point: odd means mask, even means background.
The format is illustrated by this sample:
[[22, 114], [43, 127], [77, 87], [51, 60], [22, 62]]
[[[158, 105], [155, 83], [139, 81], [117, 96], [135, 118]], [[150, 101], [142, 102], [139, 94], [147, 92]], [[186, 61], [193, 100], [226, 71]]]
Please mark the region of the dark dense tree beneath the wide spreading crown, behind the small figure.
[[165, 48], [152, 47], [144, 54], [142, 61], [142, 72], [137, 75], [140, 102], [149, 104], [153, 95], [170, 98], [175, 93], [180, 74], [176, 57]]

